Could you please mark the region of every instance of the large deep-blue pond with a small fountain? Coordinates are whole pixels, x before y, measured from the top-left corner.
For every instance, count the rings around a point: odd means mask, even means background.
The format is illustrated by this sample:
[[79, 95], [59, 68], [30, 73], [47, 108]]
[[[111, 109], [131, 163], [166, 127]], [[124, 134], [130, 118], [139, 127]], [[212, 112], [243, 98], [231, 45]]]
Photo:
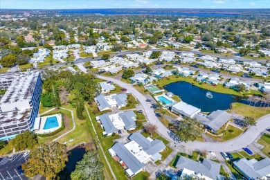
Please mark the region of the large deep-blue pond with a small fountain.
[[[211, 112], [217, 109], [226, 110], [230, 108], [231, 103], [241, 102], [249, 105], [249, 101], [241, 96], [232, 96], [226, 93], [216, 93], [206, 89], [201, 89], [189, 82], [179, 81], [167, 84], [163, 87], [165, 90], [179, 96], [183, 102], [198, 107], [203, 112]], [[206, 97], [206, 93], [210, 92], [213, 98]], [[258, 106], [258, 105], [256, 105]]]

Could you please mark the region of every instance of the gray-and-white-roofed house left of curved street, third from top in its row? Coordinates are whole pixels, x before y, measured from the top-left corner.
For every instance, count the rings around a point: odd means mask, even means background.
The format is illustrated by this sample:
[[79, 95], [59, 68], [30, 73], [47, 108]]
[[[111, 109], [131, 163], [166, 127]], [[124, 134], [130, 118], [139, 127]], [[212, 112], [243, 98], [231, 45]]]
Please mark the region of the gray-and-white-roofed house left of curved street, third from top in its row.
[[120, 111], [116, 114], [102, 114], [96, 116], [96, 120], [100, 123], [105, 132], [103, 135], [111, 136], [117, 133], [118, 130], [131, 131], [136, 129], [136, 114], [134, 111]]

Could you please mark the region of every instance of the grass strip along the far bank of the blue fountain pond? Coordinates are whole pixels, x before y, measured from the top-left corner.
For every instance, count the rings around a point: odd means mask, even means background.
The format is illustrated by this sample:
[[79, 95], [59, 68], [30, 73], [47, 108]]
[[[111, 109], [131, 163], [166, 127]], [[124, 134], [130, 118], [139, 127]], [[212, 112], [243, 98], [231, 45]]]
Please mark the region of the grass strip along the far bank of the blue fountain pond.
[[207, 89], [207, 90], [218, 92], [218, 93], [228, 93], [228, 94], [233, 94], [237, 96], [242, 96], [242, 93], [239, 93], [233, 89], [225, 88], [223, 87], [222, 84], [217, 84], [217, 86], [212, 86], [211, 84], [199, 83], [194, 78], [191, 78], [191, 77], [183, 78], [182, 76], [177, 76], [177, 75], [172, 75], [168, 78], [163, 78], [162, 80], [158, 80], [156, 84], [159, 84], [159, 87], [163, 87], [166, 84], [170, 84], [172, 82], [178, 82], [178, 81], [190, 82], [194, 84], [195, 86], [200, 87], [202, 89]]

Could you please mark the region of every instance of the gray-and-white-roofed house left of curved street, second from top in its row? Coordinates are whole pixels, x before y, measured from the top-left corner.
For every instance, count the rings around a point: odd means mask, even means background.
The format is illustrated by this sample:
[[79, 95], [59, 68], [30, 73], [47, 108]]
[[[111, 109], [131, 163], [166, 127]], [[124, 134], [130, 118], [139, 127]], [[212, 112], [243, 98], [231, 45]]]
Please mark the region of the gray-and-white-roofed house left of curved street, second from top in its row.
[[121, 108], [127, 105], [127, 94], [118, 93], [109, 96], [99, 95], [94, 98], [94, 101], [98, 104], [98, 109], [100, 111], [106, 111], [112, 107]]

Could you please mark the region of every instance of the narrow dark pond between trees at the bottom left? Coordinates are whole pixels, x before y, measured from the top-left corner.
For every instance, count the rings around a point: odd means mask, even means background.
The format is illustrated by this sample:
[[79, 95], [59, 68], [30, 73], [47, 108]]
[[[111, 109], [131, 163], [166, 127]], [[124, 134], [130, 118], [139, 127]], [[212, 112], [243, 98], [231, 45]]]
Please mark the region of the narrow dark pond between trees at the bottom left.
[[84, 156], [85, 149], [84, 147], [75, 147], [73, 150], [68, 152], [69, 161], [66, 163], [66, 167], [62, 172], [60, 172], [60, 179], [71, 179], [71, 172], [75, 170], [76, 164], [78, 161], [82, 160]]

